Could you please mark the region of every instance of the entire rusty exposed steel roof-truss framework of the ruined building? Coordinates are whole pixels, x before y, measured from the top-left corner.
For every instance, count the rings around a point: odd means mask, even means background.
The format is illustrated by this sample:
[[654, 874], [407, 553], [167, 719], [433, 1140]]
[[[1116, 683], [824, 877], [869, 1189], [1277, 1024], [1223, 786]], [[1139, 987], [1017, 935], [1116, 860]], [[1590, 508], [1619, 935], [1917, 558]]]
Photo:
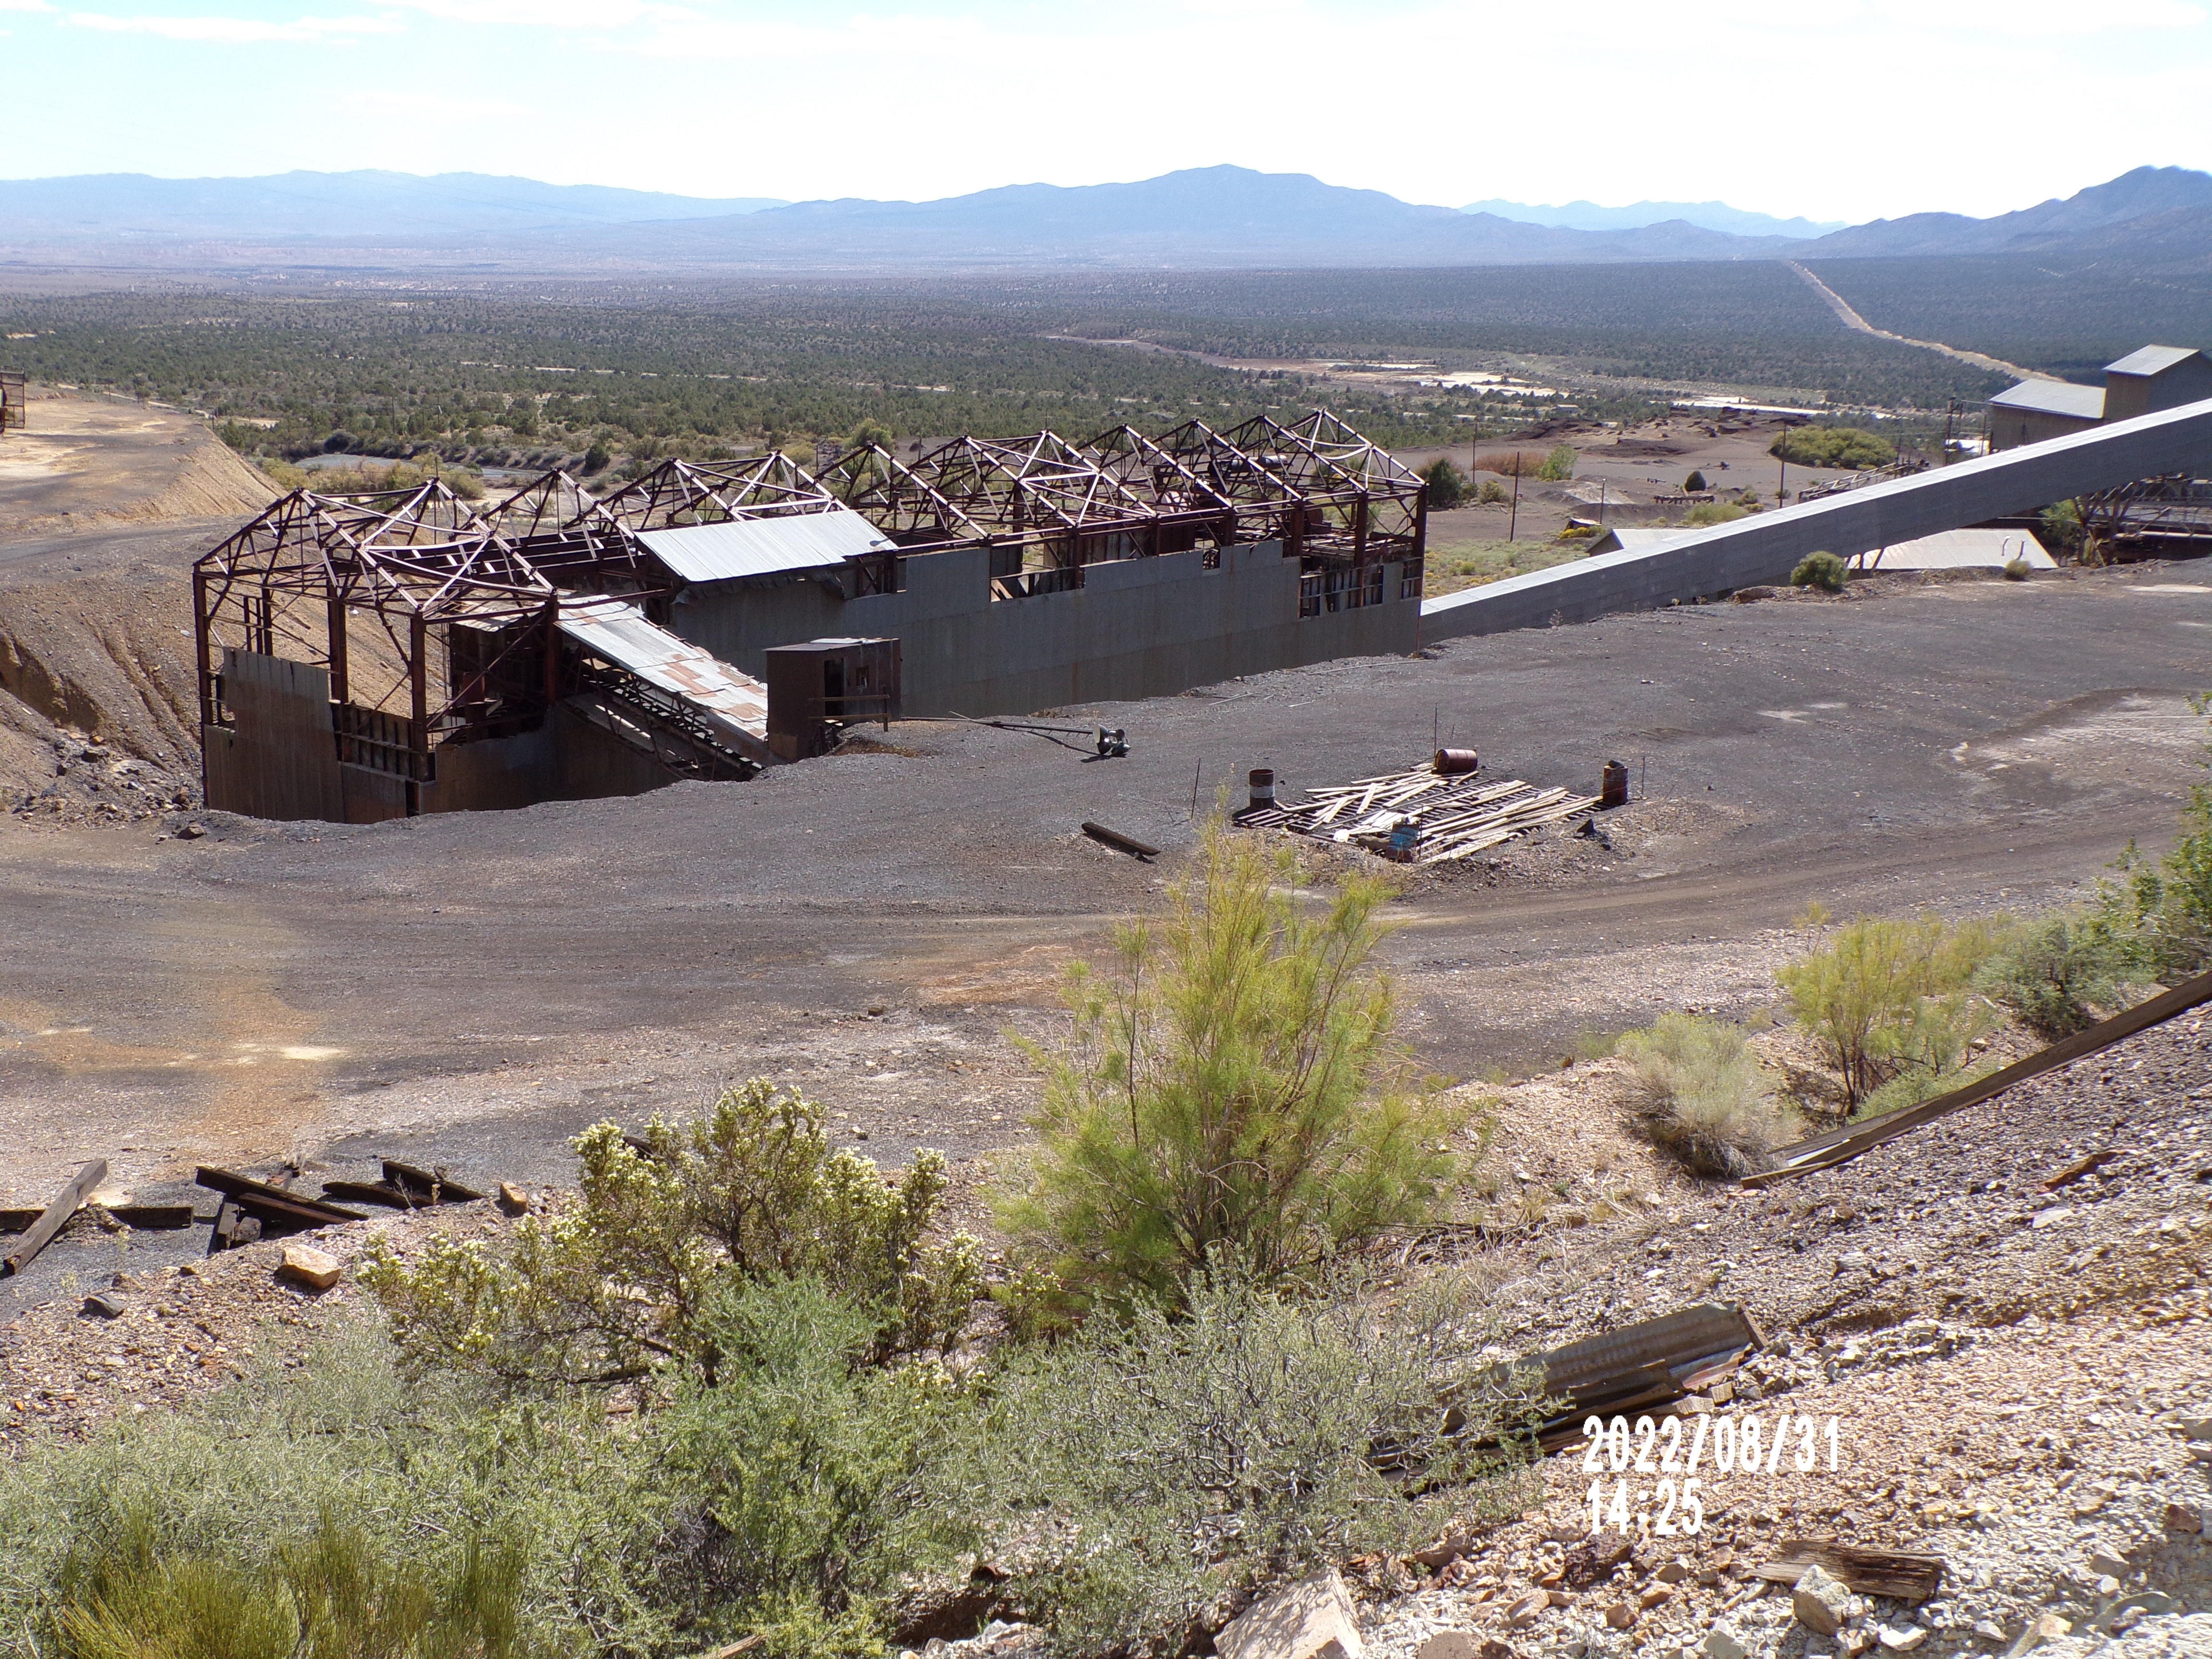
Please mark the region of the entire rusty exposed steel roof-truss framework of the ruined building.
[[427, 779], [434, 743], [542, 717], [557, 692], [564, 593], [637, 599], [648, 615], [675, 593], [644, 535], [836, 511], [896, 544], [847, 560], [849, 591], [894, 591], [909, 553], [987, 546], [1004, 597], [1082, 586], [1099, 560], [1199, 544], [1212, 560], [1265, 540], [1301, 557], [1310, 584], [1367, 584], [1400, 560], [1418, 593], [1427, 522], [1420, 480], [1323, 409], [1228, 434], [1197, 420], [1159, 438], [1113, 427], [1086, 445], [1053, 431], [953, 438], [911, 465], [865, 445], [818, 478], [776, 451], [666, 460], [604, 498], [551, 471], [482, 509], [438, 478], [301, 489], [192, 568], [201, 721], [230, 723], [226, 648], [288, 657], [327, 670], [341, 728], [374, 726], [378, 754]]

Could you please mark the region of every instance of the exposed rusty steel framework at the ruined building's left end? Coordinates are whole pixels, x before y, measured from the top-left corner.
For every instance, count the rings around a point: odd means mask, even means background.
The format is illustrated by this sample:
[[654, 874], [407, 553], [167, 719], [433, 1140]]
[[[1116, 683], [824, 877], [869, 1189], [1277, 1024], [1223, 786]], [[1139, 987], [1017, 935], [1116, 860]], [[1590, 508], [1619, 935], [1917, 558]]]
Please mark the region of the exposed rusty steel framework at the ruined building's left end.
[[[557, 606], [560, 588], [438, 480], [296, 489], [192, 566], [199, 717], [232, 723], [226, 648], [301, 661], [330, 675], [341, 748], [361, 748], [347, 759], [420, 781], [440, 737], [542, 712], [544, 690], [515, 670], [551, 661]], [[445, 633], [445, 672], [431, 628]]]

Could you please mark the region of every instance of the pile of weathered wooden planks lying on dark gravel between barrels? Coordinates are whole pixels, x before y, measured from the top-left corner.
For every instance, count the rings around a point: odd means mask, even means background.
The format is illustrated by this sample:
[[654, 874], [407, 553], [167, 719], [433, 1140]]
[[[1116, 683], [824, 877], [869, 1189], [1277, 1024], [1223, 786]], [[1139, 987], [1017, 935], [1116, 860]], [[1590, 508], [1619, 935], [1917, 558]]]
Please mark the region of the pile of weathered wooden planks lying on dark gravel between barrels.
[[[1239, 812], [1237, 823], [1340, 841], [1416, 865], [1447, 865], [1537, 825], [1595, 810], [1595, 794], [1540, 790], [1520, 779], [1491, 779], [1478, 772], [1444, 774], [1433, 765], [1420, 765], [1411, 772], [1310, 790], [1296, 805]], [[1394, 832], [1400, 843], [1396, 849]], [[1407, 841], [1411, 845], [1402, 845]]]

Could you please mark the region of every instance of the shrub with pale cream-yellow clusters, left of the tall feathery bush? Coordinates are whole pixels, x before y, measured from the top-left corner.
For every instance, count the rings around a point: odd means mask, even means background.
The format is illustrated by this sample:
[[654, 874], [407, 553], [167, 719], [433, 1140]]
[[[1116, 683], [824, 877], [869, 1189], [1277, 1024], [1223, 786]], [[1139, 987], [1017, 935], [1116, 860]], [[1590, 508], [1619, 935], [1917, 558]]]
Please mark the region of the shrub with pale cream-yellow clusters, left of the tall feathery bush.
[[876, 1363], [945, 1347], [980, 1285], [975, 1241], [925, 1234], [945, 1157], [887, 1181], [832, 1148], [821, 1108], [752, 1079], [695, 1124], [655, 1117], [633, 1146], [615, 1124], [575, 1139], [577, 1197], [526, 1217], [504, 1250], [434, 1241], [403, 1263], [372, 1243], [361, 1270], [400, 1349], [502, 1385], [622, 1383], [664, 1365], [712, 1380], [701, 1312], [745, 1279], [818, 1279], [872, 1310]]

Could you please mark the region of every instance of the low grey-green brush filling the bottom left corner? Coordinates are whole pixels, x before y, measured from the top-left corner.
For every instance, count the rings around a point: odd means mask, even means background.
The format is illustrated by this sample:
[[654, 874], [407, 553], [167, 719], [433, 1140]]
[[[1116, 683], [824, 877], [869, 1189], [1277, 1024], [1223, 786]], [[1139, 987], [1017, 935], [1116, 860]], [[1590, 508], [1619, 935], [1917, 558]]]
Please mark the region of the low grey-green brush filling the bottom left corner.
[[15, 1447], [0, 1628], [102, 1659], [252, 1659], [279, 1630], [312, 1659], [646, 1652], [681, 1531], [650, 1473], [597, 1400], [507, 1409], [403, 1376], [365, 1321], [195, 1405]]

